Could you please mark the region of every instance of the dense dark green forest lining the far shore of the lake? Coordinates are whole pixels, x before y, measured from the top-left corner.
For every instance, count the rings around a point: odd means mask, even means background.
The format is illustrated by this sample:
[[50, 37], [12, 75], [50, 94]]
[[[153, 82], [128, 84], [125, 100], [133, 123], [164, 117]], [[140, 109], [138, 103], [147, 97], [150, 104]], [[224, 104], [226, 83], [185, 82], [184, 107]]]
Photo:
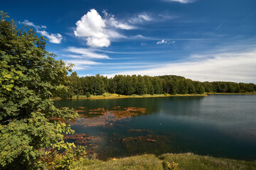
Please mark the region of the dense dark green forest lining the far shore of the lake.
[[68, 76], [68, 92], [58, 93], [60, 97], [73, 95], [101, 95], [110, 94], [203, 94], [213, 93], [241, 93], [256, 91], [255, 84], [234, 83], [225, 81], [200, 82], [179, 76], [140, 76], [116, 75], [107, 78], [96, 76], [78, 77], [76, 72]]

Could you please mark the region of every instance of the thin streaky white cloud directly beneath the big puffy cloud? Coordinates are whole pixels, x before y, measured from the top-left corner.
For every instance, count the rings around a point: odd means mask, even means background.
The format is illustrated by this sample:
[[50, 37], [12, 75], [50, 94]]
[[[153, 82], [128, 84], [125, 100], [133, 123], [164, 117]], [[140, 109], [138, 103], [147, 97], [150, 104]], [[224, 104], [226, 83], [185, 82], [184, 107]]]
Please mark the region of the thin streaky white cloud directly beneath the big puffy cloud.
[[96, 52], [93, 49], [87, 49], [82, 47], [68, 47], [66, 49], [68, 52], [75, 53], [75, 55], [68, 55], [68, 57], [73, 58], [95, 58], [95, 59], [110, 59], [107, 55], [101, 55]]

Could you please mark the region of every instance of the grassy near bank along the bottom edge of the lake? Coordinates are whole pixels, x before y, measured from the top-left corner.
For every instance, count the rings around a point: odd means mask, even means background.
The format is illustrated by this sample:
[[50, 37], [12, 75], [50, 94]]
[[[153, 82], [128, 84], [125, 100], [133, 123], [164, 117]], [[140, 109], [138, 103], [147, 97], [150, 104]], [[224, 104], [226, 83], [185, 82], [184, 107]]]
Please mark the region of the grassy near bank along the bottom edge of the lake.
[[200, 170], [200, 169], [239, 169], [254, 170], [256, 169], [256, 161], [247, 162], [234, 159], [222, 159], [208, 156], [198, 156], [195, 154], [163, 154], [156, 157], [154, 154], [145, 154], [135, 157], [127, 157], [122, 159], [112, 159], [107, 162], [94, 160], [92, 162], [81, 162], [74, 165], [76, 169], [152, 169], [152, 170]]

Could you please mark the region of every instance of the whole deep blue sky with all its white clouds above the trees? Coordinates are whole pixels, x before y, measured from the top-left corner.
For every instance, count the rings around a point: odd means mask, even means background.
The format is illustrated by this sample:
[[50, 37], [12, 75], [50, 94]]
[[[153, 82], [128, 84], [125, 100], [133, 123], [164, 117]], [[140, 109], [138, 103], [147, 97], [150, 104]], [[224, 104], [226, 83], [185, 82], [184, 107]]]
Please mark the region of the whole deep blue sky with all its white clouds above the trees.
[[256, 83], [255, 0], [2, 1], [78, 75]]

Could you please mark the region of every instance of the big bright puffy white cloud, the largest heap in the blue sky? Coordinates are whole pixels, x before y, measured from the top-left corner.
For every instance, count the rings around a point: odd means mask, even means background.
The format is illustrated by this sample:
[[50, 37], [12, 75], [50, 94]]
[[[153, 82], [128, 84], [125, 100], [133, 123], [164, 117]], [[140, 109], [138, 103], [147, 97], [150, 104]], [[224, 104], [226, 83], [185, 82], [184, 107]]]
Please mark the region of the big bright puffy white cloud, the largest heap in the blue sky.
[[134, 26], [117, 21], [114, 15], [103, 11], [104, 18], [95, 9], [88, 11], [77, 21], [75, 36], [86, 38], [87, 45], [90, 47], [108, 47], [114, 38], [125, 38], [117, 32], [117, 29], [131, 30]]

